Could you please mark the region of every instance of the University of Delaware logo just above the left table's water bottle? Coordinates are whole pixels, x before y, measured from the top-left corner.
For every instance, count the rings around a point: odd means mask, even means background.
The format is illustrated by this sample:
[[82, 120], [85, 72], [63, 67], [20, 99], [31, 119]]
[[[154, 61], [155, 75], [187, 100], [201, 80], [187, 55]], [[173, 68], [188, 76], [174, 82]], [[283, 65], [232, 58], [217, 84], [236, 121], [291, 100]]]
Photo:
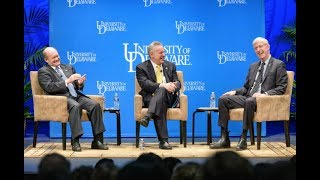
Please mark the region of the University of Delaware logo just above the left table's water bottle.
[[104, 96], [109, 91], [127, 91], [125, 82], [97, 81], [98, 94]]

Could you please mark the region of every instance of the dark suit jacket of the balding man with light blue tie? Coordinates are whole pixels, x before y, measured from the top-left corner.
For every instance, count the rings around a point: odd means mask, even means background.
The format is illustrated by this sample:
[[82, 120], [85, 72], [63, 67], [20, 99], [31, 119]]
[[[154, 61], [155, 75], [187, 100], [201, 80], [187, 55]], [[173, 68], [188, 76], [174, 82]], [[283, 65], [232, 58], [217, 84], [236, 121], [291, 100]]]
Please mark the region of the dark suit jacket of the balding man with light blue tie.
[[[70, 77], [72, 74], [76, 73], [76, 70], [71, 65], [60, 64], [60, 67], [66, 77]], [[38, 80], [41, 88], [47, 94], [69, 97], [70, 93], [64, 80], [51, 66], [47, 65], [38, 70]], [[84, 84], [80, 87], [77, 81], [74, 81], [73, 86], [78, 94], [85, 96], [79, 91], [83, 89]]]

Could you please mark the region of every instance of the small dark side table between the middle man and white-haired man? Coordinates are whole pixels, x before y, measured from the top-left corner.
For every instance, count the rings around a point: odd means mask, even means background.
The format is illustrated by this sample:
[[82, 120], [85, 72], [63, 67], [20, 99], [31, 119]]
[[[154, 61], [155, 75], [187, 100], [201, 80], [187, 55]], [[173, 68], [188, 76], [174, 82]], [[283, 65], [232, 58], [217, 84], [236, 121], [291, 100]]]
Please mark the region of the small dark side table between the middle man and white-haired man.
[[194, 127], [195, 127], [195, 114], [198, 112], [207, 112], [207, 144], [212, 143], [212, 128], [211, 128], [211, 111], [218, 112], [218, 108], [199, 107], [192, 114], [192, 144], [194, 144]]

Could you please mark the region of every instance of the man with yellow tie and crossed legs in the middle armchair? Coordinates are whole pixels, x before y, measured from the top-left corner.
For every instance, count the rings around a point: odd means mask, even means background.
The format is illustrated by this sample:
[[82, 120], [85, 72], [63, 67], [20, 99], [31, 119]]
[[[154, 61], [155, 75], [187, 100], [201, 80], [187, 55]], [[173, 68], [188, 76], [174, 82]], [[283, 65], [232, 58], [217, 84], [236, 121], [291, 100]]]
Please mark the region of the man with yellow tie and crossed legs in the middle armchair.
[[176, 104], [181, 83], [175, 64], [165, 60], [165, 50], [160, 42], [154, 41], [148, 46], [148, 55], [150, 60], [136, 66], [136, 77], [142, 88], [139, 94], [143, 97], [143, 106], [148, 107], [146, 116], [139, 122], [147, 127], [153, 119], [159, 148], [172, 149], [168, 142], [166, 115], [167, 108]]

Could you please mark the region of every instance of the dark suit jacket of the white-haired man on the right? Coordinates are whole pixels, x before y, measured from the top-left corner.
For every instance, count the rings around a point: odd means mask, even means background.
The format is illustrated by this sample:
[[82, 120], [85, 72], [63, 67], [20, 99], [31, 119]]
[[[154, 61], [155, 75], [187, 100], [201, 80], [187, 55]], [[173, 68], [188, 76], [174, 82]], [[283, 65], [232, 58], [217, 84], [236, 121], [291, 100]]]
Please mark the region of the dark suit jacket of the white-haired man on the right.
[[[236, 95], [247, 95], [252, 87], [261, 61], [250, 65], [246, 81], [242, 88], [236, 89]], [[261, 84], [261, 93], [268, 95], [281, 95], [285, 92], [288, 84], [286, 65], [283, 61], [270, 58]]]

